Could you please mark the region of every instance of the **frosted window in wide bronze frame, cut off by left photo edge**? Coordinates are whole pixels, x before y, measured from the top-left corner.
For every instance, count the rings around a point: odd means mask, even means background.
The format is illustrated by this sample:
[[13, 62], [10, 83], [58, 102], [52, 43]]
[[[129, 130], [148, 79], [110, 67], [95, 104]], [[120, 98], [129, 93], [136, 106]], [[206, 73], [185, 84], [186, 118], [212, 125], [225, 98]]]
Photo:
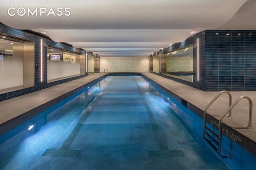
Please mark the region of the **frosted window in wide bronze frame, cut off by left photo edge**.
[[0, 37], [0, 94], [34, 86], [34, 42]]

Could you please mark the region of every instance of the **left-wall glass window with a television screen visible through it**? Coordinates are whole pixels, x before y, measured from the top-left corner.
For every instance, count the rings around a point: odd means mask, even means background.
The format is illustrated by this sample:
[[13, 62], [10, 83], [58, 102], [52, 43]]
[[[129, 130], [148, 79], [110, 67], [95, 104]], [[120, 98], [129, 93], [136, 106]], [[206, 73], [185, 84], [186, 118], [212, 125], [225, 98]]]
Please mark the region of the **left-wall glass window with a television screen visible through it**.
[[53, 82], [82, 75], [80, 54], [49, 47], [47, 49], [47, 80]]

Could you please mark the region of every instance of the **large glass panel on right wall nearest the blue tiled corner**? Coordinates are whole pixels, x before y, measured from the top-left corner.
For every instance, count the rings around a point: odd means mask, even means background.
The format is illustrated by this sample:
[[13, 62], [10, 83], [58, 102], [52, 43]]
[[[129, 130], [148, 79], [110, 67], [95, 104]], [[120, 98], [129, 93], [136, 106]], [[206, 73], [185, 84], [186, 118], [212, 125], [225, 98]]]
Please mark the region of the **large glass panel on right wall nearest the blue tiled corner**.
[[167, 53], [166, 75], [193, 82], [193, 46]]

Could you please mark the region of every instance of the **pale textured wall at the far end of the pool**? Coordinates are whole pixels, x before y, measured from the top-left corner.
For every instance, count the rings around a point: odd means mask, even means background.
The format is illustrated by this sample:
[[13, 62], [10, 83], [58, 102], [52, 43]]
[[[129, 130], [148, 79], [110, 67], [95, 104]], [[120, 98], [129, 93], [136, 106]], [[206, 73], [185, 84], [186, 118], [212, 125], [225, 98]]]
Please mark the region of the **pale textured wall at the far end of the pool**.
[[100, 72], [148, 72], [148, 56], [100, 57]]

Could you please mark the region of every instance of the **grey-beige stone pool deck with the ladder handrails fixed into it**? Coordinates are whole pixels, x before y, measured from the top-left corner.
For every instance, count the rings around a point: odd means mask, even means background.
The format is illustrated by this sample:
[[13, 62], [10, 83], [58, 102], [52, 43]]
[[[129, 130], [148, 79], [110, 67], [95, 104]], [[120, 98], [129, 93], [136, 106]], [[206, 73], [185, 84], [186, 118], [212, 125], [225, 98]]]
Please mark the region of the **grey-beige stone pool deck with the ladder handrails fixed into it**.
[[[168, 78], [158, 76], [150, 72], [141, 73], [144, 76], [150, 78], [154, 82], [160, 84], [167, 90], [176, 94], [180, 98], [186, 100], [190, 104], [196, 106], [200, 110], [209, 104], [209, 102], [219, 93], [219, 92], [204, 92], [196, 88], [175, 82]], [[240, 96], [248, 96], [252, 99], [253, 106], [256, 106], [256, 92], [230, 92], [232, 94], [232, 102], [234, 102]], [[213, 104], [208, 108], [207, 114], [212, 117], [219, 119], [220, 115], [228, 108], [228, 94], [221, 95]], [[252, 116], [252, 127], [254, 129], [248, 129], [248, 116], [249, 116], [249, 102], [246, 99], [240, 100], [240, 102], [234, 106], [232, 109], [233, 118], [224, 118], [223, 123], [233, 128], [240, 134], [244, 135], [246, 138], [256, 142], [256, 108], [253, 108]]]

